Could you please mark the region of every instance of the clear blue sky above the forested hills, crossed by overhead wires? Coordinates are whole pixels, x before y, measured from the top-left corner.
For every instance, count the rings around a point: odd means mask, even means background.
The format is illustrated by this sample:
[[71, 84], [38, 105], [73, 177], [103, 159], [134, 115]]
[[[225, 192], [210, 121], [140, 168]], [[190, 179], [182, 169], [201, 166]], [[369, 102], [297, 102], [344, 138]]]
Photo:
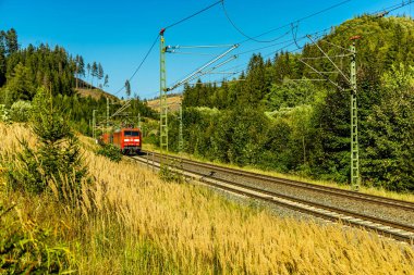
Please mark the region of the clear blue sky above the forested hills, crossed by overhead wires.
[[[22, 47], [40, 42], [51, 47], [64, 47], [69, 53], [81, 54], [85, 63], [97, 61], [109, 75], [107, 90], [115, 93], [130, 78], [151, 46], [159, 30], [187, 15], [216, 2], [215, 0], [0, 0], [0, 29], [14, 27]], [[227, 11], [239, 28], [248, 36], [295, 22], [317, 11], [332, 7], [343, 0], [326, 1], [275, 1], [275, 0], [226, 0]], [[350, 0], [346, 3], [302, 21], [297, 25], [297, 37], [315, 33], [362, 13], [370, 13], [399, 4], [399, 0]], [[406, 1], [407, 2], [407, 1]], [[393, 12], [413, 16], [414, 4]], [[289, 43], [275, 45], [292, 39], [290, 27], [284, 27], [259, 39], [282, 37], [275, 42], [242, 43], [234, 53], [257, 50], [263, 55]], [[166, 43], [171, 46], [233, 45], [245, 38], [238, 33], [224, 16], [221, 4], [166, 32]], [[294, 50], [292, 45], [287, 50]], [[218, 49], [185, 50], [197, 54], [168, 54], [167, 83], [174, 84], [205, 62], [224, 51]], [[182, 49], [182, 51], [184, 51]], [[241, 54], [221, 71], [236, 72], [245, 67], [253, 52]], [[238, 66], [236, 68], [233, 68]], [[222, 75], [207, 75], [205, 82], [221, 79]], [[159, 45], [131, 82], [132, 92], [141, 98], [154, 98], [159, 92]], [[176, 91], [180, 91], [178, 89]], [[117, 96], [122, 97], [121, 91]]]

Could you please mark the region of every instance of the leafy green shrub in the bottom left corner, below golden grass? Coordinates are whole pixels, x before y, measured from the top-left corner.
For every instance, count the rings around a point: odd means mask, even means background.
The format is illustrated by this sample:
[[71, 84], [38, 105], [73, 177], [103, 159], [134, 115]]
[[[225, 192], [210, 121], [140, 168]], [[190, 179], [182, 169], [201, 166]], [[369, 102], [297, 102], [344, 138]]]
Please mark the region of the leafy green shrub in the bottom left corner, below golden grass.
[[[1, 274], [72, 274], [74, 258], [63, 245], [50, 243], [50, 230], [11, 216], [0, 203]], [[9, 216], [7, 217], [9, 212]]]

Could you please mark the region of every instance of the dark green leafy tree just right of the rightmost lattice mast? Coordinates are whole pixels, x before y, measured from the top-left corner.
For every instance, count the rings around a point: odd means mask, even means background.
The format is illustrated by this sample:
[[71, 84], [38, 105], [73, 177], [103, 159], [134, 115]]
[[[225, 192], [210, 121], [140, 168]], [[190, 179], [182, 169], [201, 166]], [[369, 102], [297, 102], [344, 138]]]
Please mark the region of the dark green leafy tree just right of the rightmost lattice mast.
[[414, 67], [392, 66], [383, 74], [379, 105], [368, 116], [363, 175], [391, 190], [414, 191]]

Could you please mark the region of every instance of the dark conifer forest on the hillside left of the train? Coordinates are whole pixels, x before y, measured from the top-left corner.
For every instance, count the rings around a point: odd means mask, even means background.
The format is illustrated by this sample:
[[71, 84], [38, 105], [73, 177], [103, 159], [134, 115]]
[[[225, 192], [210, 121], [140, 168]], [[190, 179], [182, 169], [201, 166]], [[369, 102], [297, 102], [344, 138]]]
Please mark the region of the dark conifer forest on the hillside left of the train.
[[[99, 62], [94, 61], [85, 66], [83, 57], [72, 57], [59, 46], [51, 49], [44, 43], [38, 47], [28, 45], [21, 49], [15, 29], [0, 32], [0, 116], [16, 122], [27, 121], [32, 100], [44, 87], [52, 96], [53, 104], [69, 116], [71, 126], [92, 135], [93, 110], [98, 111], [97, 121], [104, 121], [107, 100], [105, 97], [81, 97], [76, 88], [97, 90], [95, 86], [104, 88], [108, 82], [109, 76], [105, 75]], [[111, 113], [123, 103], [113, 98], [110, 101]], [[157, 116], [137, 96], [131, 105], [132, 116], [138, 113], [146, 117]]]

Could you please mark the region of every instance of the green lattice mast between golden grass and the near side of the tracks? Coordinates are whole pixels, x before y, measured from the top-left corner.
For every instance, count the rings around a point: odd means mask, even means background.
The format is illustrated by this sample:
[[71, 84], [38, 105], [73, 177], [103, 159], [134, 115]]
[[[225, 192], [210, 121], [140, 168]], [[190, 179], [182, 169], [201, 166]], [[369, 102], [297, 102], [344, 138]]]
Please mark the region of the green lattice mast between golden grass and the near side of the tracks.
[[159, 107], [160, 107], [160, 149], [168, 152], [168, 104], [167, 104], [167, 76], [166, 76], [166, 40], [163, 32], [159, 33], [160, 39], [160, 89], [159, 89]]

